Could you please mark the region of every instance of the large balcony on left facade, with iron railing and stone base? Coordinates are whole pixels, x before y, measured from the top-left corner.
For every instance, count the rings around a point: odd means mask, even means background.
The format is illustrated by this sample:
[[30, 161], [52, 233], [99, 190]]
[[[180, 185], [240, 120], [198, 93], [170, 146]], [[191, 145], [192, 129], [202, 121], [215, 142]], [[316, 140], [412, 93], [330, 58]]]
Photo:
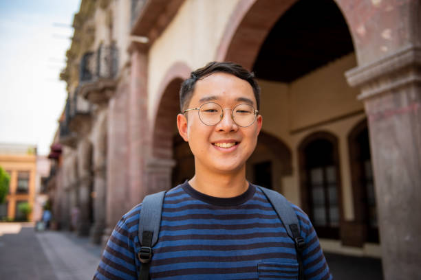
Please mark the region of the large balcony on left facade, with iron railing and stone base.
[[80, 61], [80, 95], [93, 104], [107, 102], [116, 89], [118, 51], [116, 45], [100, 45]]

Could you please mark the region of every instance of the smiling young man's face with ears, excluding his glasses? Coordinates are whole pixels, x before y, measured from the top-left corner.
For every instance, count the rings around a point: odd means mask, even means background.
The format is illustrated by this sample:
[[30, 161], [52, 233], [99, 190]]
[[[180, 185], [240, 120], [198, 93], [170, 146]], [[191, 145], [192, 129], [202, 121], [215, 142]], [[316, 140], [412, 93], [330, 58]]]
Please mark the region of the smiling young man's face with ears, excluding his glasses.
[[228, 73], [213, 73], [198, 80], [187, 108], [197, 108], [206, 102], [222, 106], [224, 117], [215, 126], [206, 126], [199, 119], [198, 110], [177, 116], [180, 135], [188, 141], [195, 156], [196, 172], [229, 174], [246, 167], [246, 160], [255, 150], [262, 117], [248, 127], [240, 127], [231, 117], [231, 109], [238, 104], [257, 108], [252, 87], [246, 80]]

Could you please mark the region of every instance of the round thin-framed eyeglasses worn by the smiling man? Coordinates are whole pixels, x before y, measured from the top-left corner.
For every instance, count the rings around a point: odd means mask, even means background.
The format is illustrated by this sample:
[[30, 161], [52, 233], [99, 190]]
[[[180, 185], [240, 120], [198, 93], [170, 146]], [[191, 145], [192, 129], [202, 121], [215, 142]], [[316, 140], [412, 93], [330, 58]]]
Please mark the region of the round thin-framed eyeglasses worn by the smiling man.
[[[224, 117], [224, 109], [215, 102], [206, 102], [198, 108], [189, 108], [183, 111], [183, 114], [189, 110], [197, 110], [199, 119], [206, 126], [215, 126]], [[248, 104], [238, 104], [231, 110], [231, 117], [237, 126], [246, 128], [251, 126], [257, 118], [258, 110]]]

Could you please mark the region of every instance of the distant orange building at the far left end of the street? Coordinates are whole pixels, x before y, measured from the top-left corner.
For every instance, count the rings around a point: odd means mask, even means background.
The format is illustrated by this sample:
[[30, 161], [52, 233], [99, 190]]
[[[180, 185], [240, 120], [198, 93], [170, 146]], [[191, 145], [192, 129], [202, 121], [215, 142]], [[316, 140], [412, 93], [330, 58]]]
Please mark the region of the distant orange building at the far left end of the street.
[[[10, 175], [9, 194], [0, 205], [0, 218], [25, 220], [19, 211], [28, 202], [32, 210], [36, 196], [36, 145], [0, 143], [0, 166]], [[33, 220], [34, 212], [28, 220]]]

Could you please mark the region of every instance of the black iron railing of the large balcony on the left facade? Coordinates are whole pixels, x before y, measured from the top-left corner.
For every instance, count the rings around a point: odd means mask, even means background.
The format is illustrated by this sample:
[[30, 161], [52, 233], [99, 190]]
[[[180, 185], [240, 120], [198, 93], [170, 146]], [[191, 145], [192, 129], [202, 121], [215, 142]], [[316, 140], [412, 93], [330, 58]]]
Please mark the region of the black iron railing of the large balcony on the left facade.
[[79, 80], [94, 82], [99, 78], [115, 78], [118, 71], [118, 50], [115, 44], [100, 45], [96, 51], [88, 51], [80, 60]]

